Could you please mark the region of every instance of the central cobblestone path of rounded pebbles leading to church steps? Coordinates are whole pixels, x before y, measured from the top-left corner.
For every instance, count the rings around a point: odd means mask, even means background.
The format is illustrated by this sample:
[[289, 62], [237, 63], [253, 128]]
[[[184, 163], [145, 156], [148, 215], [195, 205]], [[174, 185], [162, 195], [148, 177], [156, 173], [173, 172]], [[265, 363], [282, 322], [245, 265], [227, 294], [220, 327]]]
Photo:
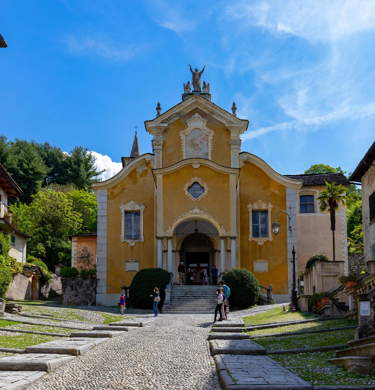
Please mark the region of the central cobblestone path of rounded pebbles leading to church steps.
[[212, 316], [158, 317], [46, 374], [28, 390], [217, 390]]

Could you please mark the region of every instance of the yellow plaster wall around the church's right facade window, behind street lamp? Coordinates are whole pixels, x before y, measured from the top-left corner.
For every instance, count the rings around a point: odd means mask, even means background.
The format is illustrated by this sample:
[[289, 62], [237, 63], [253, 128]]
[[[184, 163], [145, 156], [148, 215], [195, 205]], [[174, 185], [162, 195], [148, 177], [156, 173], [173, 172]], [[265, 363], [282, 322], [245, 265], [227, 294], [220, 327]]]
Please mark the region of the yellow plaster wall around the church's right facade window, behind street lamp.
[[[286, 207], [286, 187], [279, 184], [256, 165], [246, 162], [241, 168], [239, 191], [240, 214], [240, 245], [241, 267], [253, 272], [259, 283], [274, 286], [274, 294], [288, 293], [288, 237], [287, 223], [283, 215], [278, 215], [281, 224], [279, 234], [273, 235], [273, 241], [266, 241], [258, 245], [255, 241], [249, 241], [251, 232], [249, 225], [249, 210], [247, 205], [258, 199], [273, 205], [271, 211], [271, 223], [275, 214]], [[268, 261], [268, 272], [254, 272], [253, 261]]]

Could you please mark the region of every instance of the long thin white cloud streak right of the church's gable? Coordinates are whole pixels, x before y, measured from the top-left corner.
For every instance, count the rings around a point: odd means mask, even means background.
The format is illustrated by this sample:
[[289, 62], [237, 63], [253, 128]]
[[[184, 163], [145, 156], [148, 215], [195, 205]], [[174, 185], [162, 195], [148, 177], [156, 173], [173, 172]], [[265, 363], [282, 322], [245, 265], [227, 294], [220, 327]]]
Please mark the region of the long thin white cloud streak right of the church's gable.
[[272, 131], [313, 131], [337, 120], [362, 119], [372, 115], [375, 115], [375, 101], [364, 106], [354, 105], [344, 107], [340, 110], [336, 110], [317, 117], [297, 119], [294, 121], [278, 123], [273, 126], [262, 127], [244, 134], [242, 136], [242, 140], [245, 141], [258, 138], [267, 133], [271, 133]]

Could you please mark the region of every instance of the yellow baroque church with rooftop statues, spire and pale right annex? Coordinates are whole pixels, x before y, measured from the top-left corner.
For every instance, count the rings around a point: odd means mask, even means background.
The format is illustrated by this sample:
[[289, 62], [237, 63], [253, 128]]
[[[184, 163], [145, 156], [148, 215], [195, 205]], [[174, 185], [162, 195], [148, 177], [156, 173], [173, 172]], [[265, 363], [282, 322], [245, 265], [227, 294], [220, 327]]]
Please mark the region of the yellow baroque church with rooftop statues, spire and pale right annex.
[[[190, 68], [191, 69], [191, 68]], [[191, 69], [182, 101], [145, 121], [152, 152], [141, 154], [137, 135], [122, 170], [92, 183], [97, 196], [97, 305], [116, 305], [121, 286], [143, 268], [163, 268], [179, 282], [177, 267], [210, 276], [246, 268], [264, 286], [273, 285], [276, 302], [289, 300], [295, 277], [307, 259], [332, 259], [329, 215], [318, 209], [325, 181], [345, 185], [340, 173], [281, 175], [264, 160], [241, 151], [249, 121], [211, 101], [209, 84]], [[191, 92], [191, 86], [194, 90]], [[272, 232], [276, 213], [279, 233]], [[336, 214], [336, 260], [347, 270], [346, 209]], [[212, 282], [212, 278], [211, 278]], [[160, 289], [165, 286], [159, 286]]]

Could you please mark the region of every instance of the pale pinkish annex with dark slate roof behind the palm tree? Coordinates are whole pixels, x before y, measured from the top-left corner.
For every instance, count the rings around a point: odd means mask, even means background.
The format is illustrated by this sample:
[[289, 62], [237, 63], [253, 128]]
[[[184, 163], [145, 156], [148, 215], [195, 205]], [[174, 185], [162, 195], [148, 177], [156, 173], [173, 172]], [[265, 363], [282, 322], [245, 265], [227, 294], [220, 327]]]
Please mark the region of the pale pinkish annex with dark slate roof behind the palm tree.
[[[331, 216], [319, 210], [318, 194], [326, 188], [325, 182], [346, 186], [347, 177], [340, 172], [326, 174], [286, 175], [290, 179], [303, 180], [298, 193], [297, 242], [298, 268], [303, 270], [308, 259], [323, 254], [333, 259]], [[342, 205], [336, 211], [335, 230], [336, 261], [344, 261], [345, 275], [348, 275], [347, 209]]]

